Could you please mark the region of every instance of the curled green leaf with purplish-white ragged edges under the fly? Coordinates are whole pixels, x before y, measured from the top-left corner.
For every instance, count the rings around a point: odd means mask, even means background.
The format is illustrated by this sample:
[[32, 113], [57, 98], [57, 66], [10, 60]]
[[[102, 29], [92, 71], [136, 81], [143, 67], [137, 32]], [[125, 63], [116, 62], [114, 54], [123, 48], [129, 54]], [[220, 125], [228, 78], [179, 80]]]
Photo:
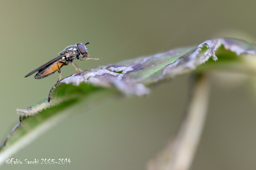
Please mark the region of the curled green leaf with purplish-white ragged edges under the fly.
[[244, 62], [246, 59], [241, 54], [255, 55], [255, 52], [255, 45], [245, 41], [217, 38], [197, 46], [98, 66], [63, 78], [50, 90], [48, 99], [25, 110], [17, 109], [21, 114], [20, 123], [6, 137], [0, 151], [0, 164], [58, 122], [84, 112], [106, 96], [119, 92], [125, 96], [144, 96], [150, 93], [146, 86], [192, 70], [201, 73], [215, 69], [251, 72], [255, 67], [247, 67], [248, 62]]

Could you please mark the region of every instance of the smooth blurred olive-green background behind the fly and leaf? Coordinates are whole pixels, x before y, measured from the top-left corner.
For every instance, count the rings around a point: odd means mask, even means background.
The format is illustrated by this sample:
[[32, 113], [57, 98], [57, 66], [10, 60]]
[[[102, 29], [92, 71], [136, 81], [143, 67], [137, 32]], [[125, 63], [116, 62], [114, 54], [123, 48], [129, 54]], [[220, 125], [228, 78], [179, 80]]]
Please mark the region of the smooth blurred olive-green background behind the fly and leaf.
[[[198, 44], [216, 36], [254, 42], [256, 1], [3, 1], [0, 6], [1, 118], [4, 140], [16, 108], [47, 97], [58, 74], [24, 78], [66, 46], [89, 41], [81, 69]], [[62, 68], [62, 78], [75, 73]], [[255, 93], [245, 82], [212, 81], [209, 115], [192, 168], [256, 169]], [[14, 159], [62, 159], [70, 165], [0, 169], [145, 169], [175, 135], [185, 111], [189, 76], [152, 86], [145, 98], [106, 98], [37, 138]]]

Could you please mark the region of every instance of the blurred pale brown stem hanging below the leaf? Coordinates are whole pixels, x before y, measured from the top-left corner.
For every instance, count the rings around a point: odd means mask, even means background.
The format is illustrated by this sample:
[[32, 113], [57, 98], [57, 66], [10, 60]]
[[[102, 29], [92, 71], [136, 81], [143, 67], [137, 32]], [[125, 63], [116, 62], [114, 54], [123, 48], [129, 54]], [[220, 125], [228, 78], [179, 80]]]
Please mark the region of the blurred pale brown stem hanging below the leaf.
[[149, 162], [149, 170], [187, 170], [194, 158], [209, 101], [209, 81], [206, 75], [196, 75], [191, 100], [178, 134], [168, 146]]

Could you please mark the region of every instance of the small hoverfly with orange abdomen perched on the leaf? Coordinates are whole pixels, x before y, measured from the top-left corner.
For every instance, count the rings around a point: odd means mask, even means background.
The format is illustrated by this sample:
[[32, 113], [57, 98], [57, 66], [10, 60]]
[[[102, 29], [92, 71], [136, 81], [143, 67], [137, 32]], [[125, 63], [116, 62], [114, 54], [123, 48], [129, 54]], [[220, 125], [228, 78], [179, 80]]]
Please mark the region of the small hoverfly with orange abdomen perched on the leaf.
[[[87, 58], [89, 56], [88, 54], [88, 48], [86, 45], [89, 44], [87, 42], [86, 44], [77, 43], [75, 46], [68, 46], [66, 47], [62, 52], [59, 53], [59, 56], [52, 59], [51, 61], [45, 63], [41, 67], [38, 67], [37, 69], [31, 71], [29, 74], [25, 76], [28, 77], [31, 74], [37, 72], [35, 75], [35, 79], [45, 78], [54, 72], [59, 72], [59, 78], [57, 83], [61, 79], [61, 68], [63, 65], [68, 65], [69, 63], [72, 64], [72, 66], [76, 69], [77, 72], [82, 71], [76, 63], [74, 63], [75, 59], [85, 61], [85, 60], [100, 60], [102, 58]], [[78, 71], [79, 70], [79, 71]]]

